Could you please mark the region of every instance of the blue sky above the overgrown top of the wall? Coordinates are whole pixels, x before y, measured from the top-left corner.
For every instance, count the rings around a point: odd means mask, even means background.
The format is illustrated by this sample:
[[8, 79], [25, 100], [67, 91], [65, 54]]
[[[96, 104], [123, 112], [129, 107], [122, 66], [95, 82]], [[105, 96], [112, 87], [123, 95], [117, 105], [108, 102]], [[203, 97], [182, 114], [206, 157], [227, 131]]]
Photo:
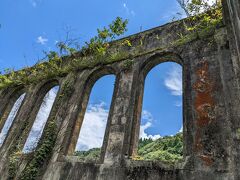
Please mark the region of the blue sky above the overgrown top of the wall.
[[169, 22], [177, 12], [176, 0], [1, 0], [0, 70], [33, 65], [66, 31], [85, 42], [120, 16], [129, 19], [130, 35]]

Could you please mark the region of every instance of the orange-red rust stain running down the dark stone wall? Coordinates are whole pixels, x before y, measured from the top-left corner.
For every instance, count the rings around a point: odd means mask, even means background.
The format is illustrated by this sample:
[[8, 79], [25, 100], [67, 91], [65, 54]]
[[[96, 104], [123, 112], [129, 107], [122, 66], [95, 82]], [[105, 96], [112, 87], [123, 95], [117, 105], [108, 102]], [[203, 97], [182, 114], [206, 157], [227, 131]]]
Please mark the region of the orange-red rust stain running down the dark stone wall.
[[[212, 97], [214, 83], [209, 78], [209, 66], [206, 61], [202, 61], [196, 70], [197, 80], [193, 85], [196, 91], [194, 108], [197, 114], [195, 151], [200, 152], [204, 146], [202, 143], [203, 129], [215, 119], [215, 103]], [[213, 159], [210, 156], [200, 155], [200, 159], [205, 165], [211, 166]]]

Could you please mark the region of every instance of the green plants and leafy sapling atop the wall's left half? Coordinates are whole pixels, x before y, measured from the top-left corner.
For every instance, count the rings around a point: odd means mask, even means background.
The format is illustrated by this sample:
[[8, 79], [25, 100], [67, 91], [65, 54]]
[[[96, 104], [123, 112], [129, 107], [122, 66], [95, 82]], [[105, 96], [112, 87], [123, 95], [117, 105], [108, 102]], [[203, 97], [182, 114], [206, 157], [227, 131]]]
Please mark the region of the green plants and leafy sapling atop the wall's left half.
[[[97, 29], [97, 35], [91, 38], [89, 42], [85, 42], [85, 45], [81, 48], [78, 45], [77, 48], [72, 47], [72, 43], [68, 41], [58, 42], [58, 52], [45, 52], [46, 57], [43, 59], [44, 62], [20, 71], [6, 69], [4, 74], [0, 73], [0, 89], [11, 85], [25, 85], [45, 78], [62, 76], [71, 70], [87, 66], [85, 64], [88, 64], [88, 62], [84, 61], [86, 60], [84, 57], [90, 55], [95, 56], [96, 59], [100, 59], [99, 57], [104, 56], [109, 47], [109, 42], [123, 35], [127, 31], [127, 24], [128, 20], [117, 17], [108, 27]], [[76, 55], [78, 52], [81, 52], [81, 56]], [[73, 58], [77, 56], [77, 58], [73, 61], [75, 62], [74, 64], [66, 66], [64, 60], [69, 56]], [[94, 63], [90, 62], [89, 64]]]

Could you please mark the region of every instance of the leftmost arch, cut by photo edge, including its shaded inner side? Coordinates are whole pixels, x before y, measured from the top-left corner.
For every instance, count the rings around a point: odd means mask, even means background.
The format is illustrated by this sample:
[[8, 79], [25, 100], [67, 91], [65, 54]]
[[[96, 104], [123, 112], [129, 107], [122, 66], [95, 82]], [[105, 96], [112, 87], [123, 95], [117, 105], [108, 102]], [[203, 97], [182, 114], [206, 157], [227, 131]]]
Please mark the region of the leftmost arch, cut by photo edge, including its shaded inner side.
[[5, 106], [3, 104], [3, 114], [0, 116], [0, 147], [4, 144], [25, 97], [25, 89], [23, 87], [16, 87], [11, 92], [8, 103]]

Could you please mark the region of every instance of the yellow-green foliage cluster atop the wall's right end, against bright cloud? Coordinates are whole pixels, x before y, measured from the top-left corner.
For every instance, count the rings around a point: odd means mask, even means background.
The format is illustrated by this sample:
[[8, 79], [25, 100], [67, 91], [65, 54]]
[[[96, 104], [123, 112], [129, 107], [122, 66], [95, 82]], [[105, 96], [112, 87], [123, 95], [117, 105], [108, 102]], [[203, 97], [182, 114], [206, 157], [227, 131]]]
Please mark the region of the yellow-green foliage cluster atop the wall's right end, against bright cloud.
[[203, 37], [215, 31], [222, 24], [222, 4], [220, 0], [177, 0], [189, 17], [187, 35], [179, 34], [179, 43], [185, 43], [192, 38]]

